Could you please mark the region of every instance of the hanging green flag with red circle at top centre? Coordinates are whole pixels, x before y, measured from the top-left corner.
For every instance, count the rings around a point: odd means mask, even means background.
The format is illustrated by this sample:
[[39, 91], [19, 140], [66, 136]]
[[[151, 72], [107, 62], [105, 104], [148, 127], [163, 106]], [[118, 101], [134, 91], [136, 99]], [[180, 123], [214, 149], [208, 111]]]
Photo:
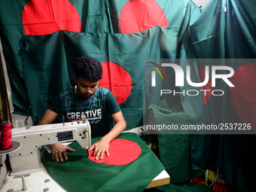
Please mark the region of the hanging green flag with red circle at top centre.
[[109, 2], [113, 31], [134, 33], [161, 26], [178, 33], [188, 0], [131, 0]]

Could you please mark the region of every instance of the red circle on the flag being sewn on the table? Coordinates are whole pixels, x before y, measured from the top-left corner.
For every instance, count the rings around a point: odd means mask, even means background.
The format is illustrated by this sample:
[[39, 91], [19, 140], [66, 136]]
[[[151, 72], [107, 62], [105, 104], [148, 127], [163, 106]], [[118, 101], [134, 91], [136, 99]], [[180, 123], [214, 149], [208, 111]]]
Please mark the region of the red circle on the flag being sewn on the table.
[[109, 143], [108, 152], [109, 156], [104, 154], [102, 160], [100, 158], [95, 160], [95, 155], [93, 154], [94, 151], [90, 151], [89, 159], [96, 163], [105, 163], [111, 166], [123, 166], [136, 160], [142, 153], [142, 148], [136, 142], [131, 142], [126, 139], [114, 139]]

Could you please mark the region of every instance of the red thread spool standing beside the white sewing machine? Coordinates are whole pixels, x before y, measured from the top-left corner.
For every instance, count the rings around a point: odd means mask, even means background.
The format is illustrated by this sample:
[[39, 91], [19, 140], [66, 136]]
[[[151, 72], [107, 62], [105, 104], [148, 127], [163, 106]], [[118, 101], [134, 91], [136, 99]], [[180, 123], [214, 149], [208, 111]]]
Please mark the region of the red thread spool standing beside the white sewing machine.
[[2, 149], [11, 148], [11, 128], [11, 122], [4, 121], [1, 123], [0, 148]]

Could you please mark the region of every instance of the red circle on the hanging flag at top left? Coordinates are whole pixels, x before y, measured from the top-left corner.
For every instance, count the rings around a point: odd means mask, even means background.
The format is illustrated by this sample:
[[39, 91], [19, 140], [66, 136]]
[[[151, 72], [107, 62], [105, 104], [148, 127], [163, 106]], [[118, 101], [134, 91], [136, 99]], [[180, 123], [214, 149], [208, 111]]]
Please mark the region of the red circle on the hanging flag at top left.
[[68, 0], [30, 0], [22, 17], [26, 35], [47, 35], [59, 30], [81, 32], [78, 11]]

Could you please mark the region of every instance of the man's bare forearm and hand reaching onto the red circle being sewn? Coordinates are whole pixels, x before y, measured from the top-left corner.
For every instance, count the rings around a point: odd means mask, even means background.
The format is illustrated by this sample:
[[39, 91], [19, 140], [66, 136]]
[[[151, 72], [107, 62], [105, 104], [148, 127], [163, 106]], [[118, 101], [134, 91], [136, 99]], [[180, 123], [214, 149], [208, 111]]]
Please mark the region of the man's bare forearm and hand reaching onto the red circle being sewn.
[[94, 149], [94, 155], [96, 155], [95, 159], [98, 160], [103, 158], [104, 154], [106, 153], [107, 156], [109, 156], [108, 153], [108, 147], [109, 143], [115, 139], [117, 136], [120, 135], [120, 133], [123, 132], [126, 128], [126, 121], [123, 118], [122, 111], [118, 111], [115, 114], [111, 114], [112, 119], [114, 120], [114, 127], [112, 130], [105, 136], [100, 139], [99, 142], [96, 143], [96, 145], [93, 145], [88, 151], [92, 151]]

